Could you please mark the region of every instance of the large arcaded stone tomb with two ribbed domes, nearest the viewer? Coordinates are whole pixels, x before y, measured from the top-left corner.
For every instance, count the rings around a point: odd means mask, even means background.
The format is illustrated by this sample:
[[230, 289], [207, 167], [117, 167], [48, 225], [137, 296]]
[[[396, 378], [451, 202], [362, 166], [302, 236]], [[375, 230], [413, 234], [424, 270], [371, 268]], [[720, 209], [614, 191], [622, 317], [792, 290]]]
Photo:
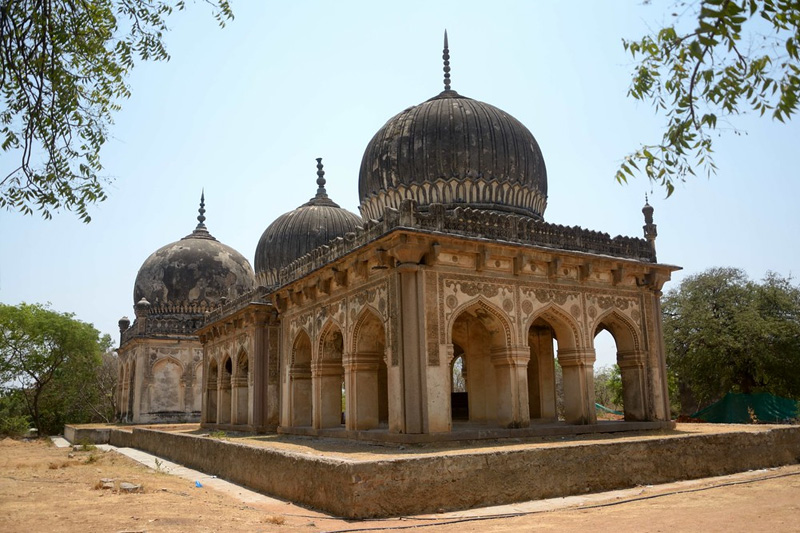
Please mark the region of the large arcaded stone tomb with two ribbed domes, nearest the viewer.
[[[533, 135], [452, 90], [446, 41], [443, 57], [444, 91], [367, 145], [361, 217], [327, 196], [318, 160], [316, 195], [258, 243], [256, 288], [198, 315], [204, 427], [383, 440], [529, 428], [559, 419], [557, 365], [564, 423], [595, 424], [601, 330], [625, 420], [669, 420], [660, 296], [676, 267], [656, 261], [652, 207], [643, 239], [545, 222]], [[139, 313], [123, 347], [138, 327], [151, 355], [130, 375], [159, 358]]]

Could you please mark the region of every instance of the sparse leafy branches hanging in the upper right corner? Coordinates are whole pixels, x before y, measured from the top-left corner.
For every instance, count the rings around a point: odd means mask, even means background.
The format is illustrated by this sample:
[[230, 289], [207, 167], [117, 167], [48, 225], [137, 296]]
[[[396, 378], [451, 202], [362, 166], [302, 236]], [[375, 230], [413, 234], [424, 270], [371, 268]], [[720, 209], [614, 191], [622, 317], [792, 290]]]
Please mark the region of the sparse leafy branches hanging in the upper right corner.
[[628, 95], [652, 103], [667, 125], [661, 142], [628, 155], [616, 173], [622, 183], [644, 172], [668, 196], [695, 167], [716, 171], [718, 123], [751, 111], [784, 122], [800, 94], [797, 0], [680, 1], [675, 9], [674, 24], [623, 40], [638, 61]]

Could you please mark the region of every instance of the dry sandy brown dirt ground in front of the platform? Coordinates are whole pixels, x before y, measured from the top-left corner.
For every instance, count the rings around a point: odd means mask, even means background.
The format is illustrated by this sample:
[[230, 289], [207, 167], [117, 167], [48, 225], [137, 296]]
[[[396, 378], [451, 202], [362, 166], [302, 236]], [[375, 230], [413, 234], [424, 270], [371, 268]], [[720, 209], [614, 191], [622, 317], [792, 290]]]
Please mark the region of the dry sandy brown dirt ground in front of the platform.
[[[111, 488], [103, 488], [103, 482]], [[122, 482], [141, 485], [125, 492]], [[800, 531], [800, 465], [550, 500], [520, 513], [345, 521], [291, 503], [240, 498], [148, 469], [116, 452], [0, 441], [0, 531]], [[530, 508], [528, 508], [530, 509]]]

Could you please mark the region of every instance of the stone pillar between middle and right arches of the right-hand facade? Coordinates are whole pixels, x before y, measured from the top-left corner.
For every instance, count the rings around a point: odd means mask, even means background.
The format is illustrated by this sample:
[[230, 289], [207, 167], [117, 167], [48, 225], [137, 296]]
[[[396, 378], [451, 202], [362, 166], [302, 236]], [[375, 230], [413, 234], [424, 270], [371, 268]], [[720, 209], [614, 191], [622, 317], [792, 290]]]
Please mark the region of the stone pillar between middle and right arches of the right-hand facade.
[[558, 350], [564, 377], [564, 418], [568, 424], [595, 424], [593, 349]]

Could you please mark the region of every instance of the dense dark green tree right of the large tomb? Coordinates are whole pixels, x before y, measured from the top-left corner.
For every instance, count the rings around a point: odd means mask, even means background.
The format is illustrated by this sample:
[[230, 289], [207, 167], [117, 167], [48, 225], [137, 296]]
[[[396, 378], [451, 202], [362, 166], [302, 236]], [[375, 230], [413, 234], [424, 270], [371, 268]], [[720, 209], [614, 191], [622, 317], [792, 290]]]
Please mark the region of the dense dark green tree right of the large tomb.
[[663, 300], [667, 365], [686, 414], [728, 392], [800, 399], [800, 287], [735, 268], [686, 278]]

